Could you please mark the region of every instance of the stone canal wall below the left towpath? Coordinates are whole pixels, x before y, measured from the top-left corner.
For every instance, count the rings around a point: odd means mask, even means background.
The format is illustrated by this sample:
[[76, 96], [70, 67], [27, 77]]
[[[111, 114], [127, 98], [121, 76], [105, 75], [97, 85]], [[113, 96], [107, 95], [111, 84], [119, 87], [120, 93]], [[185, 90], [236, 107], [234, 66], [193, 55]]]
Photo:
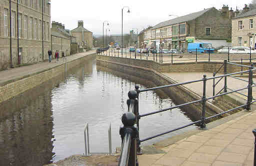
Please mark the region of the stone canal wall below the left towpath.
[[25, 75], [18, 79], [12, 79], [6, 81], [0, 85], [0, 103], [21, 94], [41, 83], [64, 73], [65, 71], [69, 70], [70, 68], [84, 62], [95, 56], [95, 54], [90, 54], [86, 56], [82, 56], [80, 58], [67, 61], [66, 63], [59, 64], [57, 66], [47, 68], [35, 73], [31, 73]]

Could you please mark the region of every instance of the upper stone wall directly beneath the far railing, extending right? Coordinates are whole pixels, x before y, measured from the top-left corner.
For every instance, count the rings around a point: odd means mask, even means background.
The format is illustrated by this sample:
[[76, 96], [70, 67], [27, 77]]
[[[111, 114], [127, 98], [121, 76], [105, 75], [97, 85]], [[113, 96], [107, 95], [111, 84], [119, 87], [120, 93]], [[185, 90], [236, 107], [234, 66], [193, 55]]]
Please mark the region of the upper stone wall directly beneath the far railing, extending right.
[[[112, 62], [124, 63], [134, 66], [140, 66], [145, 68], [151, 68], [158, 72], [215, 72], [217, 71], [223, 62], [215, 61], [202, 61], [202, 62], [183, 62], [183, 63], [158, 63], [153, 60], [145, 59], [133, 59], [133, 58], [121, 58], [116, 56], [104, 56], [97, 55], [97, 59], [107, 60]], [[240, 63], [238, 63], [240, 64]], [[243, 62], [243, 65], [250, 65], [248, 62]], [[241, 67], [233, 64], [227, 64], [227, 72], [238, 72], [241, 70], [247, 70], [246, 67]], [[219, 70], [220, 73], [224, 72], [222, 67]]]

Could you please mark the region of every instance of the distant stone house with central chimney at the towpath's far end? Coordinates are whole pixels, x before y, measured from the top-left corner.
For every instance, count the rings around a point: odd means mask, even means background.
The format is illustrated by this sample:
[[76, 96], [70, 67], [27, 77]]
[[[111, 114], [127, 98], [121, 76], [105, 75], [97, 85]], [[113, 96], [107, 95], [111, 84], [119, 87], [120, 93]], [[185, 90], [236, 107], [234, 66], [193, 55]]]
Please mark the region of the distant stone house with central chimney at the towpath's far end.
[[80, 49], [92, 48], [92, 32], [83, 27], [83, 21], [78, 20], [78, 26], [71, 30], [72, 36]]

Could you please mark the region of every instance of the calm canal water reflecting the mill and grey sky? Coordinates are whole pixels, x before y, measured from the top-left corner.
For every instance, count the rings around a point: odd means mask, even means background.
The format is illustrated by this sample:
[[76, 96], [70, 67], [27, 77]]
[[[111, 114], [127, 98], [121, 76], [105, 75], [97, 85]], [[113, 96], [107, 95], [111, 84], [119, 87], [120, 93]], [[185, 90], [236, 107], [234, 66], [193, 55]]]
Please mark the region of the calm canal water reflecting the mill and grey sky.
[[[152, 78], [153, 79], [153, 78]], [[96, 65], [90, 59], [40, 86], [0, 105], [0, 165], [42, 165], [84, 153], [84, 124], [89, 124], [91, 152], [108, 152], [111, 123], [112, 151], [120, 146], [121, 115], [135, 84], [155, 86], [149, 80]], [[139, 112], [175, 105], [164, 92], [139, 95]], [[172, 109], [140, 119], [140, 138], [191, 122], [186, 112]], [[143, 142], [152, 144], [190, 126]]]

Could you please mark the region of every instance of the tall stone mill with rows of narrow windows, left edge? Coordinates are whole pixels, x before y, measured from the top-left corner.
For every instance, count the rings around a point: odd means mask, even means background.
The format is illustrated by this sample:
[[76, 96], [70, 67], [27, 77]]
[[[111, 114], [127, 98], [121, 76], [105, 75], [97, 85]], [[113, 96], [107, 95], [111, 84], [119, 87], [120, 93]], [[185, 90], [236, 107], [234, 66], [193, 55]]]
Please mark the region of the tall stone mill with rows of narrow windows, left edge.
[[0, 0], [0, 70], [48, 58], [50, 0]]

